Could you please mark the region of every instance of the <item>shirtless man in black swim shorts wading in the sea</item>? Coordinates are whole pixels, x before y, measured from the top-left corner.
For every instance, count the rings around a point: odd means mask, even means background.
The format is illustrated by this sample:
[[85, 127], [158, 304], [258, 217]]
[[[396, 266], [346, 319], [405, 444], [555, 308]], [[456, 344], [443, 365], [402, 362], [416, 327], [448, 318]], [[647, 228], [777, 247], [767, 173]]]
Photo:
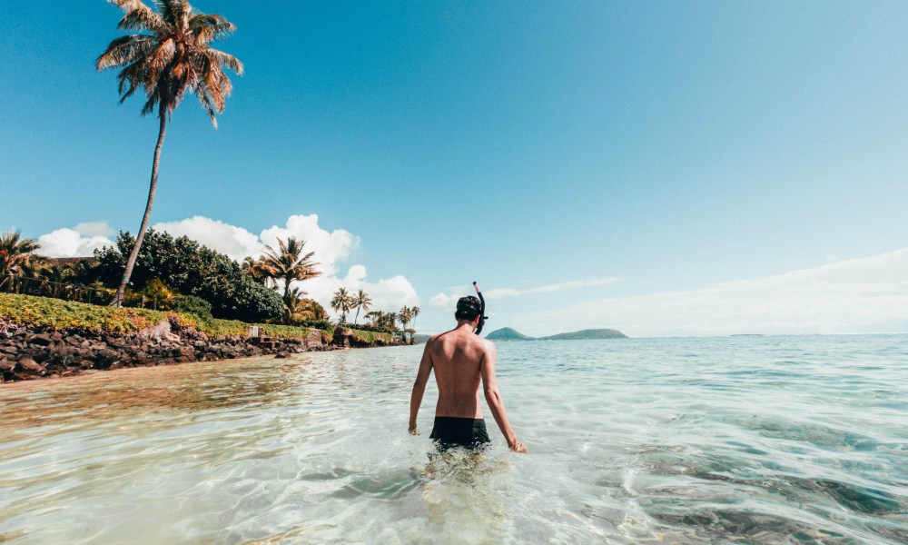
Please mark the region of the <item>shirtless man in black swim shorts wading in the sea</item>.
[[479, 299], [461, 297], [457, 302], [457, 327], [429, 339], [419, 362], [419, 373], [410, 396], [410, 433], [417, 434], [416, 415], [426, 391], [429, 374], [435, 369], [439, 385], [439, 402], [435, 406], [435, 426], [429, 436], [439, 451], [451, 447], [479, 449], [489, 444], [486, 421], [482, 419], [479, 401], [479, 381], [498, 423], [498, 429], [508, 441], [511, 451], [526, 452], [511, 430], [504, 401], [498, 393], [495, 379], [495, 344], [473, 332], [481, 317]]

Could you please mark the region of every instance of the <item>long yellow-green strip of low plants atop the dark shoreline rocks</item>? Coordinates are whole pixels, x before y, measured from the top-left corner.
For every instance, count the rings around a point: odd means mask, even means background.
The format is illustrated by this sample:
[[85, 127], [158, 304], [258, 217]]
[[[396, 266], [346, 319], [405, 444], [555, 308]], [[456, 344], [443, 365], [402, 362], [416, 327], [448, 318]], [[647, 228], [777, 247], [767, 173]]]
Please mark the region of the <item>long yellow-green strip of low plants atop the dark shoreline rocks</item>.
[[[202, 320], [194, 314], [149, 311], [147, 309], [110, 307], [84, 302], [62, 301], [48, 297], [33, 297], [15, 293], [0, 293], [0, 318], [10, 322], [27, 323], [42, 329], [76, 330], [82, 332], [135, 333], [153, 327], [169, 318], [181, 327], [194, 328], [209, 337], [244, 336], [250, 325], [237, 320]], [[302, 339], [309, 328], [289, 325], [252, 324], [262, 328], [269, 337]], [[331, 339], [333, 332], [321, 331], [322, 338]]]

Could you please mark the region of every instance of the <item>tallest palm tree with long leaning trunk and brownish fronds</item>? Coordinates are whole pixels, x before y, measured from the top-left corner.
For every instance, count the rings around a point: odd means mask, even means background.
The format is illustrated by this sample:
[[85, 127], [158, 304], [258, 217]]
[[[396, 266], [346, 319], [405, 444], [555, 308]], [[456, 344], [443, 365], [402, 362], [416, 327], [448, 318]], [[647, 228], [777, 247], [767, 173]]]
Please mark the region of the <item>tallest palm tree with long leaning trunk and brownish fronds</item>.
[[157, 11], [142, 0], [111, 0], [126, 15], [117, 28], [126, 31], [145, 31], [151, 34], [124, 35], [114, 39], [95, 67], [98, 70], [123, 67], [117, 75], [120, 102], [123, 103], [140, 88], [147, 100], [142, 114], [152, 114], [157, 108], [158, 140], [154, 146], [152, 180], [148, 188], [145, 213], [136, 234], [133, 251], [126, 260], [123, 280], [117, 288], [112, 306], [122, 306], [123, 292], [133, 274], [133, 266], [152, 213], [154, 192], [158, 184], [158, 164], [167, 121], [183, 97], [194, 93], [199, 98], [214, 128], [214, 114], [223, 112], [232, 84], [223, 68], [242, 74], [242, 63], [231, 54], [209, 46], [213, 41], [232, 34], [236, 29], [222, 15], [206, 15], [192, 9], [187, 0], [155, 0]]

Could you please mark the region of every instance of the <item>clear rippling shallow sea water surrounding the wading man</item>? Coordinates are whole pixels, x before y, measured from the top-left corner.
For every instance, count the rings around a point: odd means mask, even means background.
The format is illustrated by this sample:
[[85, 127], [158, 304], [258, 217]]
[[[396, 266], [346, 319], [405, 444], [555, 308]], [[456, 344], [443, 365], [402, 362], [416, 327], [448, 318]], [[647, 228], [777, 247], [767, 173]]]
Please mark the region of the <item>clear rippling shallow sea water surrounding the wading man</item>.
[[0, 542], [908, 542], [908, 336], [501, 343], [530, 453], [430, 466], [419, 353], [4, 385]]

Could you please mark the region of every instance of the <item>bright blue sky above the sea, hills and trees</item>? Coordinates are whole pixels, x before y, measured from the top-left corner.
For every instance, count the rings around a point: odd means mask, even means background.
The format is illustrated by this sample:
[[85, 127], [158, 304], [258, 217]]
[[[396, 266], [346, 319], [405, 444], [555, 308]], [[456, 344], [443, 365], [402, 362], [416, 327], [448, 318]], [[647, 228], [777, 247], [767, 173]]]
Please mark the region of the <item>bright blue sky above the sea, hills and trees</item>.
[[[472, 280], [528, 334], [908, 331], [908, 5], [193, 5], [246, 74], [219, 130], [174, 114], [153, 224], [321, 237], [313, 295], [427, 332]], [[156, 122], [94, 70], [119, 16], [0, 19], [0, 229], [57, 253], [141, 219]]]

